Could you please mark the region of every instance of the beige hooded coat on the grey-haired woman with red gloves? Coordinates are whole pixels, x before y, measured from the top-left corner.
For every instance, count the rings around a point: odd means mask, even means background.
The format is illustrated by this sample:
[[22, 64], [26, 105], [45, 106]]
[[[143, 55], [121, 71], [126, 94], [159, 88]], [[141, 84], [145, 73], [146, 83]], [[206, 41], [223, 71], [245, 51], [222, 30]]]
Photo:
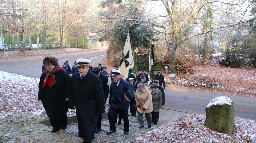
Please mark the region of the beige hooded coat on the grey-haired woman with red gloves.
[[[139, 89], [136, 90], [136, 93], [134, 94], [135, 101], [137, 103], [137, 106], [140, 104], [141, 109], [137, 107], [137, 111], [140, 113], [150, 113], [153, 111], [153, 103], [152, 103], [152, 96], [151, 92], [148, 89], [148, 87], [145, 86], [145, 89], [140, 92]], [[145, 108], [146, 110], [143, 110]]]

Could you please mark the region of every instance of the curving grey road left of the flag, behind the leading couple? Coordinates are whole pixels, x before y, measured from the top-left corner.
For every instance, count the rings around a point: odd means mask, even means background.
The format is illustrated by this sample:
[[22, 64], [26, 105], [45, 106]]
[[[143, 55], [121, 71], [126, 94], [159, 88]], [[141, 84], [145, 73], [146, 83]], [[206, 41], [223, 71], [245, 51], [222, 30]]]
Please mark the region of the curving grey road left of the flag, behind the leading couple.
[[[55, 57], [55, 58], [59, 58], [60, 66], [62, 66], [63, 63], [68, 60], [69, 61], [68, 63], [71, 66], [70, 68], [72, 68], [73, 63], [78, 58], [86, 58], [88, 60], [92, 59], [92, 62], [93, 62], [99, 58], [106, 57], [105, 54], [106, 54], [106, 50], [101, 50], [101, 51], [82, 52], [79, 54], [66, 54], [66, 55]], [[45, 56], [33, 57], [33, 58], [22, 58], [22, 59], [0, 60], [0, 71], [24, 75], [26, 77], [40, 78], [42, 74], [42, 65], [43, 65], [44, 58]]]

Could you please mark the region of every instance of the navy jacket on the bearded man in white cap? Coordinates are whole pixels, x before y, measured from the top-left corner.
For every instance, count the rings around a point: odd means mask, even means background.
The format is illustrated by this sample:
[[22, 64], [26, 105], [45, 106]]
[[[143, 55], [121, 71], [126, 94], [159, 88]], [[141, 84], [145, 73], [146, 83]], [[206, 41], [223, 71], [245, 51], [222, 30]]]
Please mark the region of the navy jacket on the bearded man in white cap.
[[129, 82], [125, 81], [123, 78], [120, 79], [119, 85], [116, 82], [112, 82], [109, 89], [109, 101], [110, 106], [116, 110], [128, 110], [129, 101], [124, 97], [124, 93], [128, 100], [132, 100], [131, 85]]

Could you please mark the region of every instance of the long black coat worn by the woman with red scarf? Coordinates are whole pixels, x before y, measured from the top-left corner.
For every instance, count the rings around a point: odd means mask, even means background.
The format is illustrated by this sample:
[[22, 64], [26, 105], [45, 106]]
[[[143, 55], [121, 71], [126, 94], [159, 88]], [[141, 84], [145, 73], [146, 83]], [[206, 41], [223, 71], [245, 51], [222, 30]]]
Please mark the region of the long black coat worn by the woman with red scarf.
[[69, 81], [70, 75], [61, 69], [55, 74], [56, 84], [52, 88], [48, 84], [42, 88], [46, 74], [42, 74], [39, 81], [38, 100], [42, 100], [47, 116], [50, 120], [60, 120], [68, 112]]

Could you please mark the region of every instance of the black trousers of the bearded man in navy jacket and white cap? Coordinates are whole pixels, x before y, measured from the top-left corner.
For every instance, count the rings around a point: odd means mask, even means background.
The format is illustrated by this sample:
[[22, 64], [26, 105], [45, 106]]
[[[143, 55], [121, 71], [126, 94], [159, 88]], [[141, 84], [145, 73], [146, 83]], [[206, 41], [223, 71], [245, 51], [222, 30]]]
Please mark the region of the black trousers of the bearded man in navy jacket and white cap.
[[119, 114], [122, 116], [122, 119], [124, 121], [124, 132], [128, 132], [129, 131], [128, 110], [117, 110], [112, 107], [109, 107], [109, 110], [108, 110], [108, 120], [109, 120], [110, 130], [116, 131], [116, 124], [115, 124], [116, 114]]

